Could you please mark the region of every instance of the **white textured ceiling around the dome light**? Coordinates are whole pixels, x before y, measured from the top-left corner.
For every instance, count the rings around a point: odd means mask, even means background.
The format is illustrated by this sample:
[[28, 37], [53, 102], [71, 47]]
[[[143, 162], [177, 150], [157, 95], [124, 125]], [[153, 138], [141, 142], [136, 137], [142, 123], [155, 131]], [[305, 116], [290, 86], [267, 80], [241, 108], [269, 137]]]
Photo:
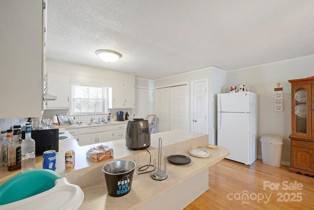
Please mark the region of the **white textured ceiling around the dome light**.
[[[105, 63], [95, 52], [122, 58]], [[158, 79], [314, 55], [314, 0], [48, 0], [47, 59]]]

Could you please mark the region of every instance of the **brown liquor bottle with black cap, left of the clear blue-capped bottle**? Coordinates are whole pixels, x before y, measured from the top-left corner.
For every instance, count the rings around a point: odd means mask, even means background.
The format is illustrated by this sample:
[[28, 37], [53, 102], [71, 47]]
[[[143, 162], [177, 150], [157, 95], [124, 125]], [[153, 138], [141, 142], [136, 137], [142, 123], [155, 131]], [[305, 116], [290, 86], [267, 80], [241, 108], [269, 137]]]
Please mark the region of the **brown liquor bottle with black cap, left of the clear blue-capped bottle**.
[[21, 169], [21, 144], [22, 144], [21, 125], [14, 125], [13, 140], [8, 144], [8, 171]]

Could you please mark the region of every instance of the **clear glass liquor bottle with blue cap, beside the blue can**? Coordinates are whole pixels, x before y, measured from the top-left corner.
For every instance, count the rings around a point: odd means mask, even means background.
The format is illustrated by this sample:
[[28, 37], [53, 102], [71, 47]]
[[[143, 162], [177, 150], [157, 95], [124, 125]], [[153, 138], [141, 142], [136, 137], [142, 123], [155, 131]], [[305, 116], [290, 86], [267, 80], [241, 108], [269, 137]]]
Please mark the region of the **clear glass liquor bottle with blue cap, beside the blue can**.
[[22, 172], [35, 169], [35, 140], [31, 138], [31, 125], [26, 124], [25, 139], [22, 141]]

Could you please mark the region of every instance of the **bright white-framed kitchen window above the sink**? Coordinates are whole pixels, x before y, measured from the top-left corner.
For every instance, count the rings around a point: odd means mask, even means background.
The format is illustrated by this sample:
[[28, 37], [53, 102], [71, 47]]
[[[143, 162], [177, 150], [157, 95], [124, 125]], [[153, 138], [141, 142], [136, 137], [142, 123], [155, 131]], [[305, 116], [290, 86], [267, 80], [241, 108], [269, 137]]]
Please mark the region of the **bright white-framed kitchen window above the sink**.
[[108, 112], [108, 87], [72, 85], [73, 115], [106, 114]]

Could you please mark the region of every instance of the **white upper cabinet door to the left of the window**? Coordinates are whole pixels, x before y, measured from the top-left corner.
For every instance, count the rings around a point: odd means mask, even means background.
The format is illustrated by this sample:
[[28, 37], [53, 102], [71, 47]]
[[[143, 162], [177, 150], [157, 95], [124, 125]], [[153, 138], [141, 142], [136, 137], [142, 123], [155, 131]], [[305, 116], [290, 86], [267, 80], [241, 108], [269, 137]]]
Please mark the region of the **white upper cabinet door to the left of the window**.
[[48, 93], [57, 96], [54, 101], [47, 101], [47, 108], [66, 108], [71, 107], [70, 95], [71, 84], [70, 75], [47, 72], [48, 74]]

